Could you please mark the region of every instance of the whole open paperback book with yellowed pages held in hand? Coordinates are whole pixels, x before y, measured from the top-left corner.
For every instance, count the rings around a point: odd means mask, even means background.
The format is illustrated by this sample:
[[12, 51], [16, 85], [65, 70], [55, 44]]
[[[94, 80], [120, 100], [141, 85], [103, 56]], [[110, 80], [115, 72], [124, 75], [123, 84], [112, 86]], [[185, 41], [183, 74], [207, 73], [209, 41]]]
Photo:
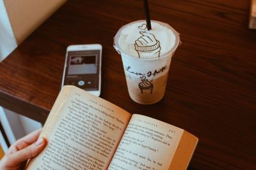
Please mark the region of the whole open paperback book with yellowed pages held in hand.
[[48, 144], [26, 169], [186, 169], [198, 138], [67, 85], [40, 136]]

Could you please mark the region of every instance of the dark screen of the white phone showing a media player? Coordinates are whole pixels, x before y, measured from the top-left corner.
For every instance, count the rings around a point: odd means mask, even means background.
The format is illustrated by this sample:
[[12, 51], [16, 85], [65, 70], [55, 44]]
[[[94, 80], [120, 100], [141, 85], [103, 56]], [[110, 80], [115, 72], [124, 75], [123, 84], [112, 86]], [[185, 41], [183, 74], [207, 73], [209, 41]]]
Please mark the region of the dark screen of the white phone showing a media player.
[[100, 50], [68, 51], [64, 85], [99, 90]]

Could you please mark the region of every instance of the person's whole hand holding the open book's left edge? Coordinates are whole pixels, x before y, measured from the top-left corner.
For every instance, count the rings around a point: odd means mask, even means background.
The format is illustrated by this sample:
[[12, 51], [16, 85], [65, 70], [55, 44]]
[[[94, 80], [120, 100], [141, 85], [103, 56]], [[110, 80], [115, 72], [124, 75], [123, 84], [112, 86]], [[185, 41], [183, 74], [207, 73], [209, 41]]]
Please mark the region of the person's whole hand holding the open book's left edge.
[[0, 169], [17, 170], [22, 162], [38, 155], [46, 144], [45, 138], [38, 139], [41, 131], [42, 129], [38, 129], [31, 132], [10, 146], [8, 152], [0, 160]]

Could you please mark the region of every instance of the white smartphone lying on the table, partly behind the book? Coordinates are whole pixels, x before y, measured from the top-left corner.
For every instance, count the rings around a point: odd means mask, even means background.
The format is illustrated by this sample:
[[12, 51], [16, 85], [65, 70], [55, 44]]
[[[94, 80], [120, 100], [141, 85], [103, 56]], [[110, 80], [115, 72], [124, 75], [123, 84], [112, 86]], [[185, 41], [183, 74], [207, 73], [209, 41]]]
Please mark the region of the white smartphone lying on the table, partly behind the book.
[[67, 48], [62, 84], [75, 85], [100, 96], [102, 46], [70, 45]]

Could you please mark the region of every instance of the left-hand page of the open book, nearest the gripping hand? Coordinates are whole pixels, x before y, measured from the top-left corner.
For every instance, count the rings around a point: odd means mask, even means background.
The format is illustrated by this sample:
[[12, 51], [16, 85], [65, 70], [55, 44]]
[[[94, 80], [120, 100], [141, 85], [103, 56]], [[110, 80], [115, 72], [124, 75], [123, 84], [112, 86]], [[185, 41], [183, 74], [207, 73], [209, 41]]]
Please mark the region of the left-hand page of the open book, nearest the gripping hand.
[[40, 135], [48, 145], [28, 169], [107, 169], [130, 118], [114, 104], [66, 86]]

